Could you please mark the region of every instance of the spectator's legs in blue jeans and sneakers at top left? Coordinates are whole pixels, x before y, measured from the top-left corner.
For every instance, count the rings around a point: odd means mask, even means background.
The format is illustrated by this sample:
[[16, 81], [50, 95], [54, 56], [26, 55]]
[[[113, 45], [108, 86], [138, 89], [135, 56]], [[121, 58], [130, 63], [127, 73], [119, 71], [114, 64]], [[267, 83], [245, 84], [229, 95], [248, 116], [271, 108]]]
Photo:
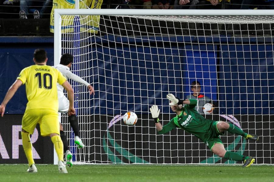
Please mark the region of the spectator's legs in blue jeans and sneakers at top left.
[[[35, 4], [33, 0], [20, 0], [20, 18], [27, 19], [29, 16], [29, 9], [34, 5]], [[51, 9], [52, 7], [52, 0], [45, 0], [42, 5], [40, 4], [38, 6], [42, 8], [40, 9], [40, 12], [37, 9], [33, 11], [34, 19], [43, 18], [44, 12]]]

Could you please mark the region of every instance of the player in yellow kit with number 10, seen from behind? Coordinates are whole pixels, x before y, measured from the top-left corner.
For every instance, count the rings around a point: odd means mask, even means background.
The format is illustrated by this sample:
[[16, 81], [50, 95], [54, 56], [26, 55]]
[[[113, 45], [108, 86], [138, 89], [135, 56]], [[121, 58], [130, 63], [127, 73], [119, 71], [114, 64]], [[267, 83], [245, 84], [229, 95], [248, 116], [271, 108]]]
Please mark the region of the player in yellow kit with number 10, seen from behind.
[[33, 61], [35, 65], [24, 68], [9, 88], [0, 105], [0, 113], [1, 116], [4, 115], [5, 106], [9, 100], [21, 85], [26, 84], [28, 103], [22, 119], [21, 134], [23, 148], [29, 163], [27, 171], [37, 172], [32, 157], [30, 134], [33, 133], [35, 126], [39, 123], [41, 135], [50, 136], [54, 144], [59, 159], [59, 172], [68, 173], [64, 164], [63, 142], [59, 130], [57, 83], [62, 85], [68, 92], [68, 115], [75, 114], [73, 89], [61, 72], [52, 66], [46, 65], [47, 52], [44, 49], [36, 49], [34, 51]]

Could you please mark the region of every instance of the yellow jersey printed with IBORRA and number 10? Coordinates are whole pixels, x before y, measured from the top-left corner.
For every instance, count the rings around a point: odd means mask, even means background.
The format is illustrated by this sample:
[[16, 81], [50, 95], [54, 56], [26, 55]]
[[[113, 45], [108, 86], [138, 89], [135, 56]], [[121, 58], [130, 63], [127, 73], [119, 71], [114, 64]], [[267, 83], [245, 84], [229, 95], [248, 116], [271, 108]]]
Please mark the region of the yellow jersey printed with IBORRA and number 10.
[[24, 68], [17, 79], [26, 83], [27, 109], [51, 109], [58, 112], [57, 83], [66, 78], [57, 69], [47, 65]]

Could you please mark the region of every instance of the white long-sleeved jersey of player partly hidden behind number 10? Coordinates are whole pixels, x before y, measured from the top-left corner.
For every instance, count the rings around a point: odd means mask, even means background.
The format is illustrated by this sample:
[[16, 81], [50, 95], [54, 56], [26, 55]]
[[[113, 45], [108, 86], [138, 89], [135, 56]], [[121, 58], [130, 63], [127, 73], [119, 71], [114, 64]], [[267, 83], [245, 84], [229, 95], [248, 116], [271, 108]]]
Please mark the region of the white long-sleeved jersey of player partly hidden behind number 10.
[[[66, 79], [70, 78], [76, 82], [82, 83], [85, 86], [89, 86], [90, 84], [87, 83], [85, 80], [83, 80], [82, 78], [80, 78], [79, 76], [73, 74], [70, 70], [68, 66], [62, 65], [62, 64], [58, 64], [57, 66], [53, 66], [54, 68], [58, 69], [63, 76], [65, 76]], [[61, 86], [59, 83], [57, 83], [57, 90], [58, 92], [62, 92], [64, 91], [64, 87]]]

